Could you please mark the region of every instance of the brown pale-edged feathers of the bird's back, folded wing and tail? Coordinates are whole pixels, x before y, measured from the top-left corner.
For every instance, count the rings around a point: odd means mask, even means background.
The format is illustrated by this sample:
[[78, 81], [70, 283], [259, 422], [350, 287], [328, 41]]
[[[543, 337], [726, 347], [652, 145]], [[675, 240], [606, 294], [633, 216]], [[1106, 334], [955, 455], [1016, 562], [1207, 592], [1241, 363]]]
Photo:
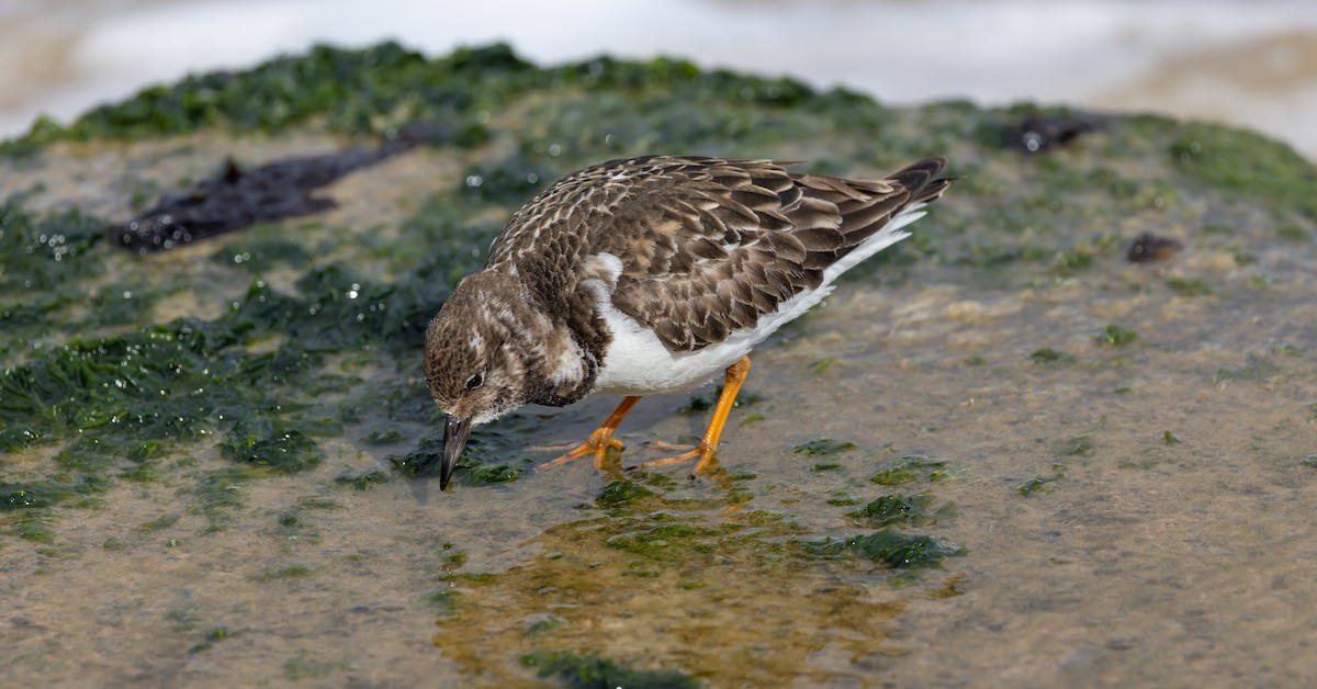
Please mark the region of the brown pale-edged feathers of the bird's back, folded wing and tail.
[[623, 265], [614, 306], [673, 350], [697, 350], [819, 287], [827, 266], [901, 208], [940, 196], [950, 180], [934, 178], [944, 165], [930, 158], [884, 179], [847, 180], [770, 161], [614, 161], [527, 204], [490, 263], [532, 252], [576, 261], [611, 253]]

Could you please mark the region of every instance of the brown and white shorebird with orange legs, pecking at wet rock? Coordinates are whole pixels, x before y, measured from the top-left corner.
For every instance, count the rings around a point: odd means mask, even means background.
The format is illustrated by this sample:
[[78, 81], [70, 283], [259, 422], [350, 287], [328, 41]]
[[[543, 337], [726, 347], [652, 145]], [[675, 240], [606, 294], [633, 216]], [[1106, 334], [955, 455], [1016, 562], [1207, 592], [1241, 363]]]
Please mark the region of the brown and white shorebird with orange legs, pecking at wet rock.
[[[540, 466], [593, 456], [645, 395], [723, 374], [709, 427], [684, 452], [707, 470], [749, 353], [860, 261], [910, 236], [955, 178], [934, 157], [880, 179], [792, 173], [797, 162], [644, 155], [553, 183], [516, 211], [483, 269], [425, 331], [425, 381], [444, 412], [440, 490], [471, 428], [527, 404], [622, 402], [583, 443]], [[677, 445], [668, 448], [684, 449]]]

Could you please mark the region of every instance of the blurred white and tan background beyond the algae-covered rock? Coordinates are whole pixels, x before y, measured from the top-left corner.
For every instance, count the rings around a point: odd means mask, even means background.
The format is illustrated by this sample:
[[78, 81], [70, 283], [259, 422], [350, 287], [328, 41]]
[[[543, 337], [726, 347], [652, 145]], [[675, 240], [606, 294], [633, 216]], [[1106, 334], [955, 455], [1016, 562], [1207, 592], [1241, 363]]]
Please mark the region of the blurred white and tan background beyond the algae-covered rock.
[[386, 38], [431, 57], [507, 41], [540, 65], [666, 54], [888, 104], [1154, 111], [1317, 159], [1312, 0], [3, 0], [0, 138], [190, 71]]

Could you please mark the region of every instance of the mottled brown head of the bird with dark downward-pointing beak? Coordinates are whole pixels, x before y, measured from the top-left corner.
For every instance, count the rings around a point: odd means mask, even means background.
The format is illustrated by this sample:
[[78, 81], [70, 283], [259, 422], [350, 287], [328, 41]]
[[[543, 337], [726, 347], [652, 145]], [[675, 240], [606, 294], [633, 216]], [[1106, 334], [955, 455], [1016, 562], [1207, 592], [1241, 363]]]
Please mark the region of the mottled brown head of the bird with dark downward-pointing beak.
[[471, 427], [527, 402], [528, 353], [520, 352], [515, 336], [524, 303], [518, 299], [497, 275], [469, 275], [425, 332], [425, 381], [448, 416], [440, 490], [448, 487]]

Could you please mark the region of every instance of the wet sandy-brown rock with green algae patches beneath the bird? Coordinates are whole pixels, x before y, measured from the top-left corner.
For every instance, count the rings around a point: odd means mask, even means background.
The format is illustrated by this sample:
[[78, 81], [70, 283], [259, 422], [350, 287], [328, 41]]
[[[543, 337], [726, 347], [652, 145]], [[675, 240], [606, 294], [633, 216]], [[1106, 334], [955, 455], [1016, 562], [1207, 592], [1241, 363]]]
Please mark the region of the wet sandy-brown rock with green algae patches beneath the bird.
[[[296, 75], [296, 79], [290, 79]], [[1317, 182], [1241, 130], [881, 107], [502, 47], [317, 49], [0, 145], [0, 667], [13, 682], [1204, 684], [1317, 672]], [[337, 207], [171, 252], [213, 175], [450, 134]], [[947, 154], [915, 236], [765, 343], [719, 468], [535, 473], [612, 399], [483, 427], [440, 494], [425, 320], [520, 203], [608, 158], [863, 177]], [[1183, 249], [1130, 262], [1141, 233]]]

